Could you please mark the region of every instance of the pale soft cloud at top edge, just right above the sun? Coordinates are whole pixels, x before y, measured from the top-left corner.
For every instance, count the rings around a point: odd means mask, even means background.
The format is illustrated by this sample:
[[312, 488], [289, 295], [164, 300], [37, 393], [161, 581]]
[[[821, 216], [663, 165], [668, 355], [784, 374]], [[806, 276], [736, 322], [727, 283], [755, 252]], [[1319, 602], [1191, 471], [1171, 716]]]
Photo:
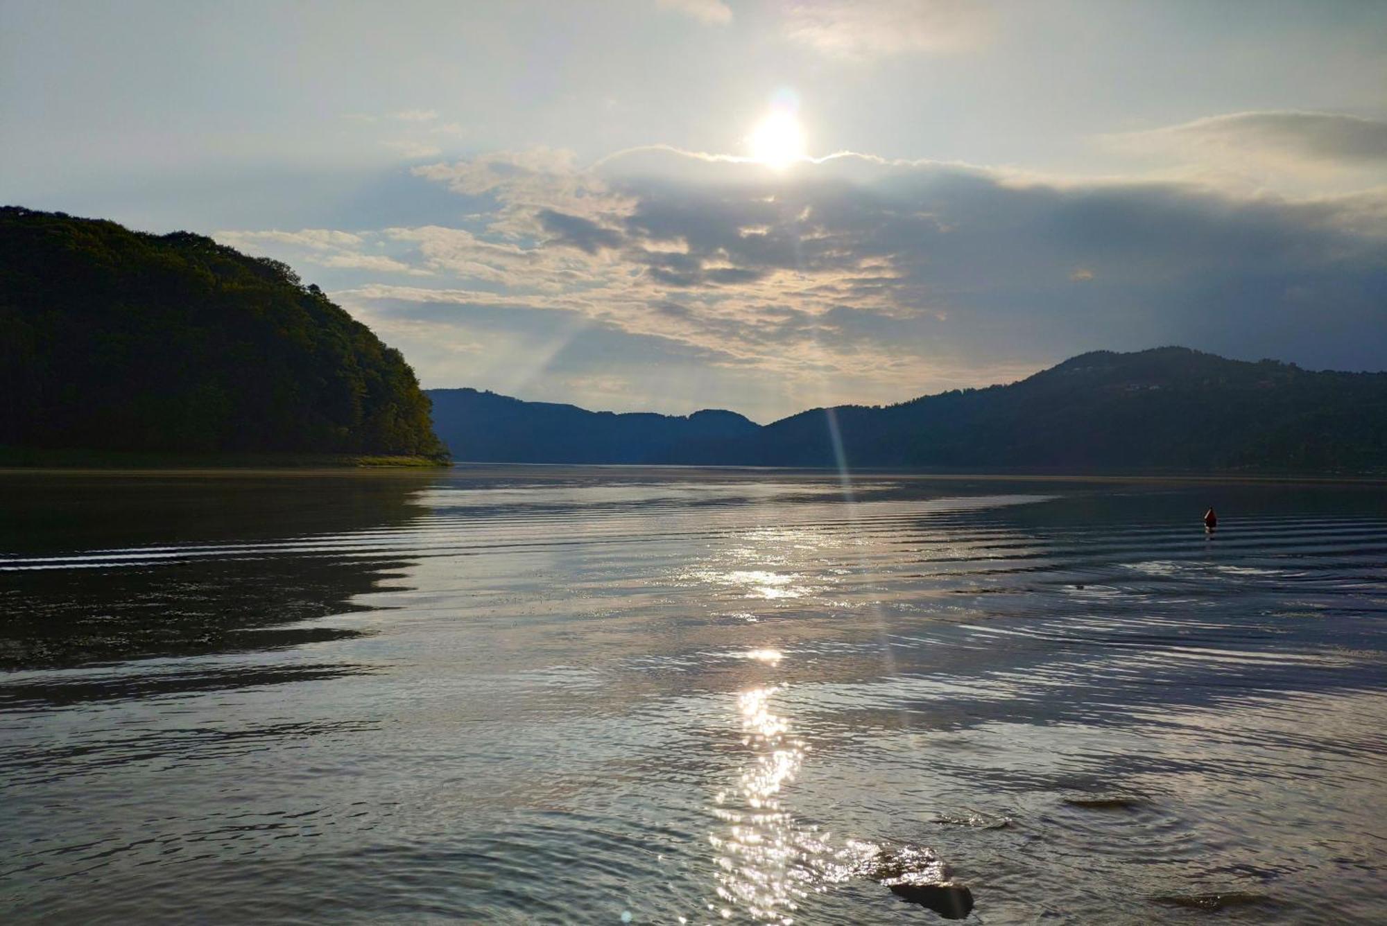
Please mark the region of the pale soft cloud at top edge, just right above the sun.
[[785, 7], [786, 36], [835, 58], [970, 51], [988, 39], [992, 11], [968, 0], [822, 0]]

